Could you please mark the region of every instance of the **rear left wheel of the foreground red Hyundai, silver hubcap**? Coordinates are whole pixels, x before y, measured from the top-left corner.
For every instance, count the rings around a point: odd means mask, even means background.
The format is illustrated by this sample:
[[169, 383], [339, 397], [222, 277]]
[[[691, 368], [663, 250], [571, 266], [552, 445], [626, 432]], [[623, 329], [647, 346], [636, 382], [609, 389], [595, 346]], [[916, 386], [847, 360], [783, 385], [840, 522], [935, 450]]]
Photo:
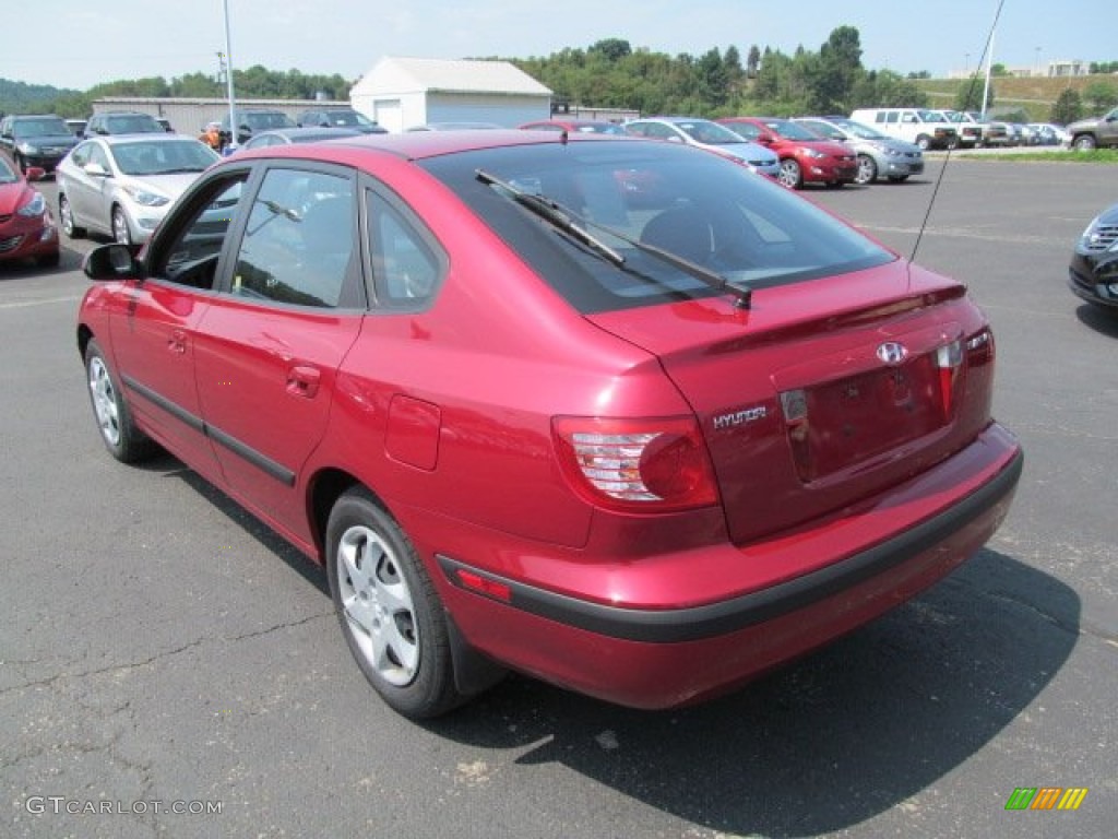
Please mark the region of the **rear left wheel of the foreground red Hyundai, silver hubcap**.
[[363, 488], [326, 525], [330, 594], [350, 652], [389, 707], [428, 719], [461, 705], [443, 604], [411, 541]]

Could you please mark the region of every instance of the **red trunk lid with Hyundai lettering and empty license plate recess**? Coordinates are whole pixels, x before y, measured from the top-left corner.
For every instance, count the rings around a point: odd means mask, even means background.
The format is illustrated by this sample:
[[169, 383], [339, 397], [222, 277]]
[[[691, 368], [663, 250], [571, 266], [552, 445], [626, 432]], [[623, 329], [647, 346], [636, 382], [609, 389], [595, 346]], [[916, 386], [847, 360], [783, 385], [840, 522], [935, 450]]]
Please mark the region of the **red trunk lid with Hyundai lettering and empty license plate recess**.
[[737, 544], [864, 505], [989, 422], [985, 319], [900, 260], [759, 290], [749, 311], [717, 298], [590, 320], [655, 353], [691, 404]]

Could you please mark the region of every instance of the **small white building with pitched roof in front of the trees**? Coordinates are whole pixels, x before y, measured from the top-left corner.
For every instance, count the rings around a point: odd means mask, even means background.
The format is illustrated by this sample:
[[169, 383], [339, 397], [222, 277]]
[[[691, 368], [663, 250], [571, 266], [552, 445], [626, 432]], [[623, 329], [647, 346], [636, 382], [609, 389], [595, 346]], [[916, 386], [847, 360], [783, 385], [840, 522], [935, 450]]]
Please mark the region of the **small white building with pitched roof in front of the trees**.
[[350, 104], [389, 131], [439, 122], [515, 128], [551, 116], [551, 91], [509, 62], [386, 56], [350, 89]]

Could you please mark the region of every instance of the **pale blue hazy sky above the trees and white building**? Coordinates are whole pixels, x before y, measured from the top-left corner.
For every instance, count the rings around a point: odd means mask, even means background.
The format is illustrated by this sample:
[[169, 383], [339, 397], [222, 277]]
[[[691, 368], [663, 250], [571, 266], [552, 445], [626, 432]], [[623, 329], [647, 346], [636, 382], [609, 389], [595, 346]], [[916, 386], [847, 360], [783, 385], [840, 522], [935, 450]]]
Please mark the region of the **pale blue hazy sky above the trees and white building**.
[[[700, 56], [757, 45], [817, 51], [840, 26], [859, 30], [862, 65], [932, 76], [993, 60], [1118, 60], [1115, 0], [38, 0], [35, 25], [7, 16], [0, 78], [85, 91], [120, 78], [216, 75], [234, 67], [341, 74], [385, 56], [530, 58], [606, 39]], [[42, 23], [39, 26], [39, 23]]]

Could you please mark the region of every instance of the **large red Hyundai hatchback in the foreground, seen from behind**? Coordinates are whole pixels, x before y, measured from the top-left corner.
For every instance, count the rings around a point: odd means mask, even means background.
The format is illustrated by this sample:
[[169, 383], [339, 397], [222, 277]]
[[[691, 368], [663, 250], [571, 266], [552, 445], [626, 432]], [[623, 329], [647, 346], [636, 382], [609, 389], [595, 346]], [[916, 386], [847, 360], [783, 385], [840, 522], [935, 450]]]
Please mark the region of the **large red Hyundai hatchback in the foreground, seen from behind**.
[[85, 272], [108, 452], [163, 446], [324, 564], [410, 717], [506, 668], [740, 686], [950, 573], [1022, 469], [959, 283], [681, 143], [249, 151]]

